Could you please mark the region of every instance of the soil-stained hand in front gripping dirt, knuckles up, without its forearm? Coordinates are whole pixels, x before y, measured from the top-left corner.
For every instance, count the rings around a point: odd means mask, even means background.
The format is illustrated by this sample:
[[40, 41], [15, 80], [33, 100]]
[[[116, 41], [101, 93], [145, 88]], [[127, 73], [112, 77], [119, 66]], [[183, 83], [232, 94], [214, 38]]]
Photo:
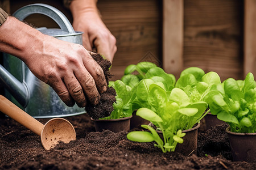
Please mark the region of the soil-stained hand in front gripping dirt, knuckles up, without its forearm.
[[103, 70], [82, 45], [44, 35], [23, 61], [70, 107], [75, 102], [85, 107], [86, 98], [96, 105], [100, 101], [99, 92], [106, 91]]

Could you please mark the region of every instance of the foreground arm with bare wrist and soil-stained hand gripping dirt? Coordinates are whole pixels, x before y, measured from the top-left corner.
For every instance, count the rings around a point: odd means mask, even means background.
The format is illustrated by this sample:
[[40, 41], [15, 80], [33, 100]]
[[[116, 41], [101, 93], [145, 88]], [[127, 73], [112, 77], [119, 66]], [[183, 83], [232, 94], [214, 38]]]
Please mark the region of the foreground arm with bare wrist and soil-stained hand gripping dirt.
[[43, 35], [10, 16], [0, 27], [0, 51], [20, 58], [68, 106], [85, 107], [86, 98], [97, 104], [99, 92], [106, 91], [101, 67], [83, 46]]

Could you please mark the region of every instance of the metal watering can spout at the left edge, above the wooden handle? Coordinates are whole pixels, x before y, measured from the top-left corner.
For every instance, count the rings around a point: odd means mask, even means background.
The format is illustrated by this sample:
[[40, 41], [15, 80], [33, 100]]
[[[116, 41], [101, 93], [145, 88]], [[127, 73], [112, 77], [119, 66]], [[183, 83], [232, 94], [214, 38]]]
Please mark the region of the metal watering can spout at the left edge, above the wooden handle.
[[26, 83], [21, 83], [2, 65], [0, 65], [0, 84], [14, 96], [22, 107], [26, 107], [29, 99], [29, 91]]

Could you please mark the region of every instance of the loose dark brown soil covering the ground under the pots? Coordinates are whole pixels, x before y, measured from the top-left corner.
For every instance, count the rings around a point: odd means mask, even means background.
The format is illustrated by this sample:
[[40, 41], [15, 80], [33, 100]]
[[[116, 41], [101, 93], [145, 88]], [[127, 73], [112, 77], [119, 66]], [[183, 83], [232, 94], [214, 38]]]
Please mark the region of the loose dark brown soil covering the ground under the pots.
[[[162, 153], [154, 143], [131, 142], [127, 132], [95, 132], [86, 114], [67, 117], [76, 141], [44, 150], [40, 137], [10, 118], [0, 118], [0, 169], [255, 169], [232, 162], [226, 124], [200, 130], [197, 155]], [[48, 119], [39, 119], [45, 124]], [[138, 130], [139, 128], [137, 128]]]

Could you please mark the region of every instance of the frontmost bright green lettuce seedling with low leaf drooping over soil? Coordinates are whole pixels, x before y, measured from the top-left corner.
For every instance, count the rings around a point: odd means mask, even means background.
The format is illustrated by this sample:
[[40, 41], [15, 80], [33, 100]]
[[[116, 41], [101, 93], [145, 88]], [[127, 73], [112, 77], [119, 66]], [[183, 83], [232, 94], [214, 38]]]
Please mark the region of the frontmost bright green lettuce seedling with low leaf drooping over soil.
[[162, 82], [143, 79], [137, 88], [137, 97], [147, 108], [140, 108], [137, 115], [151, 121], [163, 133], [163, 140], [155, 129], [142, 125], [148, 131], [132, 131], [127, 138], [136, 142], [155, 141], [163, 152], [175, 151], [177, 143], [183, 143], [185, 133], [205, 115], [208, 105], [204, 101], [192, 102], [180, 88], [165, 89]]

